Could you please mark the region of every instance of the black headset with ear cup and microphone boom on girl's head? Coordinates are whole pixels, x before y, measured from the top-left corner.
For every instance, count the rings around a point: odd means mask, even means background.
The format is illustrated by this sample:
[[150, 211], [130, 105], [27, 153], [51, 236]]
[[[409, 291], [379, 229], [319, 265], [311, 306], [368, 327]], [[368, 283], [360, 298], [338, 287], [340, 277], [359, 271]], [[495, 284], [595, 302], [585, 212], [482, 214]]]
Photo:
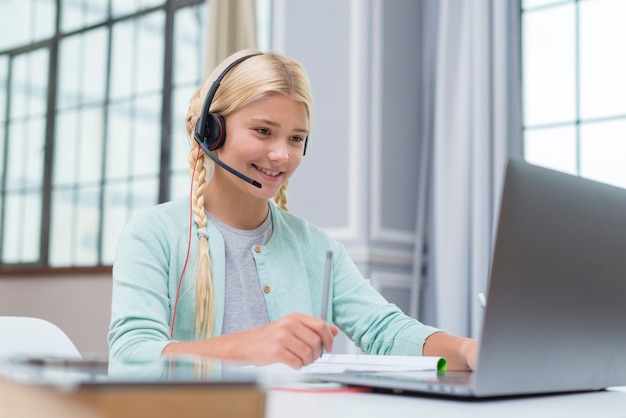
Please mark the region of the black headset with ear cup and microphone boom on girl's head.
[[200, 114], [200, 118], [196, 123], [196, 129], [193, 137], [198, 145], [200, 145], [200, 148], [202, 148], [206, 155], [208, 155], [209, 158], [211, 158], [215, 162], [215, 164], [219, 165], [229, 173], [239, 177], [243, 181], [248, 182], [260, 189], [261, 187], [263, 187], [261, 183], [251, 179], [248, 176], [245, 176], [231, 166], [223, 163], [219, 158], [217, 158], [215, 154], [213, 154], [213, 151], [224, 145], [224, 141], [226, 141], [226, 122], [224, 121], [222, 115], [219, 115], [217, 113], [211, 113], [209, 111], [211, 107], [211, 102], [213, 101], [213, 96], [215, 96], [215, 92], [220, 86], [222, 78], [224, 78], [224, 76], [241, 61], [245, 61], [248, 58], [254, 57], [256, 55], [261, 54], [246, 55], [244, 57], [236, 59], [235, 61], [230, 63], [230, 65], [226, 67], [224, 71], [222, 71], [217, 79], [215, 79], [213, 84], [211, 84], [211, 88], [209, 88], [209, 92], [207, 93], [206, 99], [204, 100], [204, 104], [202, 106], [202, 113]]

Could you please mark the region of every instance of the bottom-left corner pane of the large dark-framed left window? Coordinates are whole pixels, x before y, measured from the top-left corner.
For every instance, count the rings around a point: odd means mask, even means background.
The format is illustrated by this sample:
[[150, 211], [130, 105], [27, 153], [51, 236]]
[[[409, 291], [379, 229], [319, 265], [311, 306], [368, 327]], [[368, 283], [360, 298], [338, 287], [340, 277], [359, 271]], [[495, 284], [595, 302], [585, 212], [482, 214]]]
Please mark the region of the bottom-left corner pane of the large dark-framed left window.
[[41, 194], [7, 193], [2, 242], [4, 263], [33, 263], [39, 260], [41, 242]]

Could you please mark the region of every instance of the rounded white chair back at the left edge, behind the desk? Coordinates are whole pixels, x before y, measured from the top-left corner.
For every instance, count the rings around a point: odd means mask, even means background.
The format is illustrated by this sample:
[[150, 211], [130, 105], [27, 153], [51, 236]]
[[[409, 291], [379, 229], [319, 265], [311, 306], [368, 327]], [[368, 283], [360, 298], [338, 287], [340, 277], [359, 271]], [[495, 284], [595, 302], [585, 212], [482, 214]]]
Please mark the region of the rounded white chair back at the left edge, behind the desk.
[[0, 316], [0, 358], [19, 355], [82, 358], [72, 340], [53, 323], [39, 318]]

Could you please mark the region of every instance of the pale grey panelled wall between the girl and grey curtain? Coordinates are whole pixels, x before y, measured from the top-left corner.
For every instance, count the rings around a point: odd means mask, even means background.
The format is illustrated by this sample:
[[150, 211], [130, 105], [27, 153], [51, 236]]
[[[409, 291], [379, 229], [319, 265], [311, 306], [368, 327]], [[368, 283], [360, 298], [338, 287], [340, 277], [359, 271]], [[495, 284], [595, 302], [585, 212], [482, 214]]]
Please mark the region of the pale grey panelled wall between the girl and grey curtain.
[[274, 7], [274, 48], [302, 62], [315, 99], [289, 208], [346, 244], [363, 274], [408, 313], [416, 303], [408, 296], [415, 282], [422, 2], [274, 0]]

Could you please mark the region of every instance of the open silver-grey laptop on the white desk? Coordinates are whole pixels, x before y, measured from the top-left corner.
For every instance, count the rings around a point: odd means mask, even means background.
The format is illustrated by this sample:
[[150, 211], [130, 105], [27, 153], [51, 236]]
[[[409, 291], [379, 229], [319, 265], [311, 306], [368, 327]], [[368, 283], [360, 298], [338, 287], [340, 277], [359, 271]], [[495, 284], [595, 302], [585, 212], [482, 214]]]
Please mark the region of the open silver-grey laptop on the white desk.
[[476, 398], [626, 385], [626, 190], [508, 162], [480, 340], [474, 372], [317, 377]]

